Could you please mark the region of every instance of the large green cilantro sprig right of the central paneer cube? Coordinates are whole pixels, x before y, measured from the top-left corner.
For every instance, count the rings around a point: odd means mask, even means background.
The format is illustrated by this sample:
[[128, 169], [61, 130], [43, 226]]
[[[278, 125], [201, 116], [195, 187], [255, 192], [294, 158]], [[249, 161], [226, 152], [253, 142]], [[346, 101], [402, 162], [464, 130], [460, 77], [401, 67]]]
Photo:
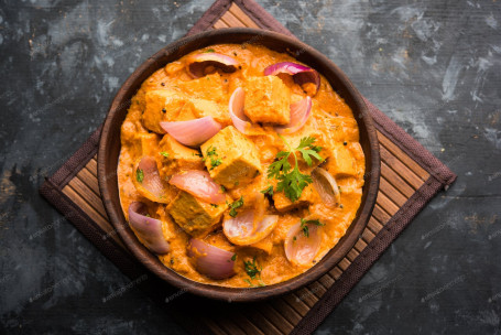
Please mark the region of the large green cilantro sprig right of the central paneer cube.
[[[312, 166], [312, 156], [319, 160], [320, 162], [324, 161], [324, 159], [318, 154], [322, 148], [313, 145], [316, 139], [312, 137], [302, 138], [299, 145], [295, 149], [291, 149], [291, 145], [288, 145], [284, 138], [282, 138], [282, 140], [288, 147], [290, 151], [280, 151], [276, 154], [277, 161], [273, 162], [268, 168], [268, 177], [274, 177], [279, 180], [275, 191], [283, 191], [285, 196], [288, 197], [291, 202], [295, 202], [301, 197], [304, 187], [313, 182], [311, 175], [301, 173], [297, 164], [296, 152], [299, 152], [306, 164], [308, 164], [308, 166]], [[294, 169], [288, 162], [288, 156], [291, 154], [294, 156]]]

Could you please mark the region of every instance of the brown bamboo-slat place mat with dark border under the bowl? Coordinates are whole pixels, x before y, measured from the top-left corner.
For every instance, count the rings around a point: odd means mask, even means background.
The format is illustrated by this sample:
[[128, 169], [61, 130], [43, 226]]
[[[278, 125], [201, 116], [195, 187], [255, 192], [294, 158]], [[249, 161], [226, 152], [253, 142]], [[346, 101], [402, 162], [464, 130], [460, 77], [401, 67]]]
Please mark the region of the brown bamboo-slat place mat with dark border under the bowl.
[[[208, 29], [250, 26], [292, 35], [252, 0], [218, 0], [188, 34]], [[75, 227], [190, 333], [311, 334], [333, 312], [412, 218], [456, 175], [417, 141], [366, 100], [378, 129], [381, 183], [369, 224], [358, 242], [318, 281], [283, 296], [257, 303], [208, 301], [170, 287], [132, 257], [108, 221], [102, 205], [96, 153], [100, 129], [41, 187]], [[123, 289], [123, 288], [122, 288]], [[120, 295], [123, 290], [104, 299]]]

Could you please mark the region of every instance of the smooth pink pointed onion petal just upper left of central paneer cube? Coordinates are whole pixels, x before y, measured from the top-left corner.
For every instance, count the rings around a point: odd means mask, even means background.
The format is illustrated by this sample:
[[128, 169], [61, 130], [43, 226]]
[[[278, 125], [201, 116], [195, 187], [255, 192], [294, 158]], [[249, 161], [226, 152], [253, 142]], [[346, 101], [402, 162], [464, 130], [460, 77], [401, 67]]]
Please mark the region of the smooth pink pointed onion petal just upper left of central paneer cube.
[[160, 126], [177, 142], [188, 147], [198, 147], [221, 130], [221, 125], [210, 116], [188, 121], [160, 122]]

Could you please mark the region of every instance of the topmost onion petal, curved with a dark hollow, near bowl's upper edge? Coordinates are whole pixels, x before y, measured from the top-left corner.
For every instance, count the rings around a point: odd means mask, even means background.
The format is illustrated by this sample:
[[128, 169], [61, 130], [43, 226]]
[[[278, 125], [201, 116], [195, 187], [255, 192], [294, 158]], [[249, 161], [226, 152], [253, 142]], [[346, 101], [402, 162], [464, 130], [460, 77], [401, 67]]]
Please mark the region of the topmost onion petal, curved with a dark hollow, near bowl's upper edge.
[[218, 53], [203, 53], [193, 55], [188, 58], [187, 69], [192, 77], [199, 78], [207, 75], [206, 69], [209, 66], [219, 68], [222, 72], [231, 73], [237, 71], [238, 65], [239, 63], [237, 60], [230, 56]]

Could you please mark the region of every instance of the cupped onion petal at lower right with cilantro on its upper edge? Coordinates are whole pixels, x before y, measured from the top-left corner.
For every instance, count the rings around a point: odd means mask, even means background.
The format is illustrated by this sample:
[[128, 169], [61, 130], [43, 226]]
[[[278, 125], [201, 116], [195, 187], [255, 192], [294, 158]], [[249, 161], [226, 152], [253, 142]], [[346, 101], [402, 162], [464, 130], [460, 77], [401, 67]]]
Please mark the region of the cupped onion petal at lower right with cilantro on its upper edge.
[[297, 266], [309, 266], [322, 244], [322, 227], [306, 224], [308, 236], [301, 227], [301, 223], [291, 227], [285, 238], [285, 256], [288, 261]]

